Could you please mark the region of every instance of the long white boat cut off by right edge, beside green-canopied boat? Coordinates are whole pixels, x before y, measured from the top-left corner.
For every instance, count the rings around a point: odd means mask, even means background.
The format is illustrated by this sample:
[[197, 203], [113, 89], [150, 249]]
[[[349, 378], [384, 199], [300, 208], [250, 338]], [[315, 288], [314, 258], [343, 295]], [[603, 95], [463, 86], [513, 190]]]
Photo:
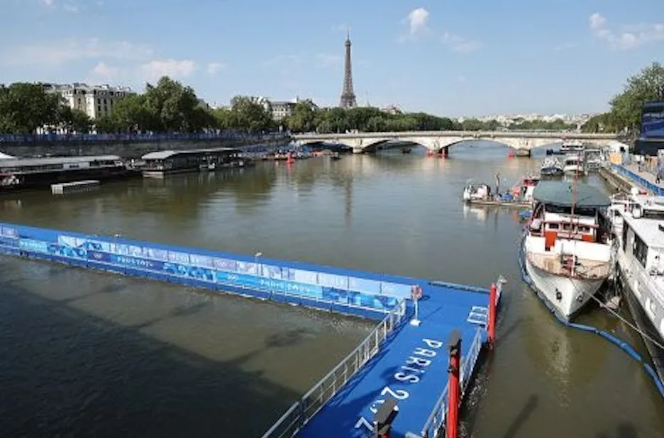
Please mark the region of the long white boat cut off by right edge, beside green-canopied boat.
[[[612, 205], [618, 233], [616, 260], [624, 296], [664, 378], [664, 197], [633, 189], [626, 200]], [[654, 342], [653, 342], [654, 341]]]

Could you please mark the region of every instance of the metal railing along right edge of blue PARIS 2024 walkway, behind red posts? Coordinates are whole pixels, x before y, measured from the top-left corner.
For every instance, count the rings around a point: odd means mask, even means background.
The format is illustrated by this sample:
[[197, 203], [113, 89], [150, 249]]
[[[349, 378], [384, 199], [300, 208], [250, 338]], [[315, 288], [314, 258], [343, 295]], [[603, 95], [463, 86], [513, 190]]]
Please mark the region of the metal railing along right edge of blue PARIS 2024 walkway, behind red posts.
[[[470, 344], [470, 349], [467, 354], [461, 361], [461, 370], [460, 370], [460, 385], [461, 385], [461, 395], [460, 400], [463, 400], [463, 394], [470, 382], [470, 374], [475, 368], [475, 362], [477, 357], [480, 356], [480, 351], [482, 350], [482, 332], [485, 329], [483, 327], [477, 328], [475, 331], [475, 337], [472, 339], [472, 344]], [[422, 427], [420, 435], [422, 438], [438, 438], [445, 436], [445, 421], [447, 418], [447, 404], [448, 404], [448, 384], [443, 388], [443, 393], [438, 398], [436, 405], [433, 405], [433, 410], [428, 416], [428, 419]]]

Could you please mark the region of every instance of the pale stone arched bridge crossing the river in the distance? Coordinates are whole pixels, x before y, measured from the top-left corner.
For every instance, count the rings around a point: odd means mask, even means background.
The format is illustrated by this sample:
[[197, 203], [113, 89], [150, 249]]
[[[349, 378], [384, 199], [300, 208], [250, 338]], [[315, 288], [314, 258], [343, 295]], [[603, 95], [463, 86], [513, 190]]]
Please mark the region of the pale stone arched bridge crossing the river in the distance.
[[530, 150], [551, 145], [563, 140], [581, 140], [587, 144], [603, 147], [618, 140], [617, 134], [582, 134], [543, 131], [406, 131], [402, 133], [331, 133], [293, 135], [301, 145], [334, 143], [353, 148], [355, 153], [375, 152], [388, 145], [387, 142], [411, 142], [428, 150], [448, 155], [448, 148], [460, 142], [488, 140], [501, 143], [517, 151]]

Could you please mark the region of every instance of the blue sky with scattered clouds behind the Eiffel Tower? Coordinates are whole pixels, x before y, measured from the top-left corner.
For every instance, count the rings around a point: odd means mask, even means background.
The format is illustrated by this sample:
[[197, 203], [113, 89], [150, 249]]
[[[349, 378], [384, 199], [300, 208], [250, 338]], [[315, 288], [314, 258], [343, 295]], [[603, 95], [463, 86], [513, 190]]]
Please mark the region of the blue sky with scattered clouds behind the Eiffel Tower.
[[438, 116], [605, 111], [664, 57], [663, 0], [0, 0], [0, 23], [0, 83], [167, 74], [220, 106], [337, 106], [348, 29], [360, 106]]

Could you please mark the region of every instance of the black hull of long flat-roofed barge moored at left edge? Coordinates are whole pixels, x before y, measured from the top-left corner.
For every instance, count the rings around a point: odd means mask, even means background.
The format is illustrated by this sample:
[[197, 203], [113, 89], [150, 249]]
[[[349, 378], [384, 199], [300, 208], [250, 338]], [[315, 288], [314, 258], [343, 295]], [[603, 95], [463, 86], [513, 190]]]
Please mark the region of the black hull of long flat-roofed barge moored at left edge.
[[111, 169], [76, 169], [60, 172], [39, 172], [34, 174], [16, 174], [19, 184], [0, 185], [0, 193], [13, 193], [16, 191], [50, 189], [51, 184], [60, 184], [84, 179], [109, 181], [114, 179], [128, 179], [140, 176], [136, 170], [124, 168]]

